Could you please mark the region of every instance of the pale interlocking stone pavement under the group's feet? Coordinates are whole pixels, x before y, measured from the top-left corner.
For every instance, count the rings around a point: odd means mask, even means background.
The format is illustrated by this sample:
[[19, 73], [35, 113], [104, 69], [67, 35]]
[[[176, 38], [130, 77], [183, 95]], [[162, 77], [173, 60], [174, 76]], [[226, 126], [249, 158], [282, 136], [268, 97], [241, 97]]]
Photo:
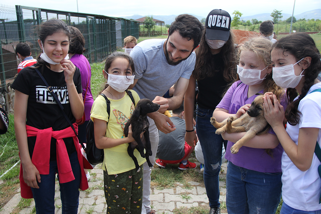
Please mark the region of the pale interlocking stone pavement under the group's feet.
[[[199, 163], [196, 162], [198, 167], [195, 169], [199, 170]], [[155, 165], [156, 166], [156, 165]], [[222, 164], [222, 172], [220, 174], [220, 201], [221, 207], [225, 205], [225, 194], [226, 194], [226, 163]], [[79, 198], [79, 208], [78, 214], [86, 213], [106, 213], [106, 201], [103, 191], [103, 172], [97, 167], [97, 169], [90, 170], [91, 180], [89, 182], [89, 189], [85, 191], [80, 191]], [[150, 195], [152, 202], [152, 209], [156, 210], [158, 214], [172, 214], [175, 208], [179, 207], [192, 207], [192, 206], [208, 206], [208, 198], [206, 196], [206, 191], [204, 184], [197, 182], [189, 182], [192, 186], [192, 189], [184, 189], [182, 184], [177, 184], [176, 187], [171, 189], [158, 190], [156, 187], [152, 187], [152, 193]], [[12, 213], [14, 208], [18, 205], [21, 200], [20, 189], [17, 191], [17, 194], [0, 210], [0, 214], [9, 214]], [[20, 211], [20, 214], [29, 214], [35, 213], [34, 210], [34, 201], [32, 200], [30, 206], [24, 208]], [[56, 193], [55, 193], [55, 213], [61, 213], [61, 200], [59, 185], [56, 181]], [[226, 210], [226, 209], [225, 209]], [[226, 212], [226, 211], [225, 211]], [[221, 212], [224, 213], [224, 210]]]

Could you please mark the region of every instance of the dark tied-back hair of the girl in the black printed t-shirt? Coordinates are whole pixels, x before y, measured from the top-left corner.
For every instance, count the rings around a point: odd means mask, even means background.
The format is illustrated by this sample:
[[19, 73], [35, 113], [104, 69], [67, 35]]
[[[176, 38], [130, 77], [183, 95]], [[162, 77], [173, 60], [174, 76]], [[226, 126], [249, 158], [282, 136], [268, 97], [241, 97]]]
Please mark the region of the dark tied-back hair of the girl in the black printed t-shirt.
[[[37, 26], [36, 31], [37, 36], [41, 40], [42, 44], [44, 44], [47, 36], [51, 36], [56, 32], [64, 32], [66, 36], [68, 36], [68, 38], [70, 39], [70, 31], [67, 24], [60, 19], [49, 19], [48, 21], [42, 22], [40, 25]], [[43, 65], [47, 65], [50, 68], [50, 64], [40, 58], [41, 53], [42, 50], [39, 52], [37, 56], [37, 63], [39, 65], [38, 67], [42, 67], [41, 71], [43, 72]]]

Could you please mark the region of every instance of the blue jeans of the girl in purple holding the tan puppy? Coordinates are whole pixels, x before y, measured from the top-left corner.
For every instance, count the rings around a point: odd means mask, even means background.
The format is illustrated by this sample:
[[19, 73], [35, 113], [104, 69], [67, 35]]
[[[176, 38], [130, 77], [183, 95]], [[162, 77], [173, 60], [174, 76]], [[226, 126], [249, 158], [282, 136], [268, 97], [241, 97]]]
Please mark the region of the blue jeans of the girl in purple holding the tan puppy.
[[226, 207], [229, 214], [274, 214], [281, 199], [282, 173], [263, 173], [229, 162]]

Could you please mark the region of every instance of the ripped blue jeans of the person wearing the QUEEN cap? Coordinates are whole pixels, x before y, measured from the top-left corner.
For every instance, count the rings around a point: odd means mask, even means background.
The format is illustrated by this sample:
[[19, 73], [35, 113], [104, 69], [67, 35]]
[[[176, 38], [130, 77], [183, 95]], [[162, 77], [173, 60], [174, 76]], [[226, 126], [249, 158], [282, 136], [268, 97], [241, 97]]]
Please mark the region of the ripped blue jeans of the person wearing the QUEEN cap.
[[219, 173], [222, 163], [223, 138], [215, 134], [216, 129], [210, 122], [213, 109], [197, 107], [196, 132], [204, 156], [204, 184], [210, 207], [220, 206]]

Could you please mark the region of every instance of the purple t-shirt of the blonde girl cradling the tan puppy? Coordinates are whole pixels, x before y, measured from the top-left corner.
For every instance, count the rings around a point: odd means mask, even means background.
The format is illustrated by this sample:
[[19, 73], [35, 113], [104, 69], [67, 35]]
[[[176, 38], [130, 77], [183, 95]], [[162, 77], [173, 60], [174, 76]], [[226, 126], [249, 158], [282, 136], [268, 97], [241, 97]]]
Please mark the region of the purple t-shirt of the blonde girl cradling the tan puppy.
[[[241, 106], [251, 104], [257, 95], [247, 98], [248, 85], [241, 83], [241, 81], [234, 82], [229, 90], [222, 98], [217, 108], [229, 110], [230, 114], [236, 114]], [[259, 91], [259, 93], [263, 93]], [[286, 108], [287, 101], [284, 98], [281, 100], [281, 105]], [[271, 128], [268, 133], [275, 134]], [[234, 165], [244, 167], [250, 170], [267, 173], [282, 172], [281, 170], [281, 157], [283, 148], [281, 143], [272, 149], [273, 157], [265, 152], [265, 149], [256, 149], [242, 146], [237, 154], [232, 154], [230, 148], [234, 143], [228, 141], [227, 152], [225, 158], [231, 161]]]

